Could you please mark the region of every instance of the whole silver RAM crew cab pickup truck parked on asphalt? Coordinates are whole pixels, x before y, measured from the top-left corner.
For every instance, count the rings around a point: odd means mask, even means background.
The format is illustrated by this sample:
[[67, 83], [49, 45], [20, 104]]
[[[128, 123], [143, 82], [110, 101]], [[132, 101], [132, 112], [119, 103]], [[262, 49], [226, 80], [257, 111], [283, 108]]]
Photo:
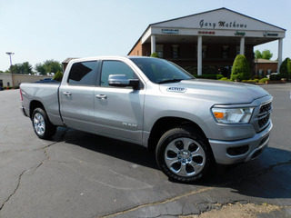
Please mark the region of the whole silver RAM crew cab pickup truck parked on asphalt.
[[255, 159], [273, 127], [264, 89], [196, 79], [159, 58], [75, 59], [61, 84], [21, 84], [20, 92], [39, 138], [67, 126], [140, 144], [179, 182], [206, 176], [215, 163]]

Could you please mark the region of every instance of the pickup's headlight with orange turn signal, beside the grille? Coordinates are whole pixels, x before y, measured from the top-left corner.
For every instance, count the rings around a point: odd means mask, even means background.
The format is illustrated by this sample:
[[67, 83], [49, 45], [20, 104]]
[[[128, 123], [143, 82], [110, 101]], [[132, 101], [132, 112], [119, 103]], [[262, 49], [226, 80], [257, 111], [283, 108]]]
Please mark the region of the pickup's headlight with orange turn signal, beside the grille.
[[253, 111], [254, 107], [212, 108], [212, 113], [220, 124], [247, 124], [252, 117]]

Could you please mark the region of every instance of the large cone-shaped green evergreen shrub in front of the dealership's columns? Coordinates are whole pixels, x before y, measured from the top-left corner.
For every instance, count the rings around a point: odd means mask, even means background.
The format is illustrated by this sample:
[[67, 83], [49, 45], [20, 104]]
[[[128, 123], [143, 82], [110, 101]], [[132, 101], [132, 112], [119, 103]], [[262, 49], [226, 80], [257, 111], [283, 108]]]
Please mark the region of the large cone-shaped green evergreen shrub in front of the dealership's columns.
[[230, 79], [232, 81], [249, 80], [251, 78], [251, 68], [246, 60], [246, 56], [238, 54], [233, 64]]

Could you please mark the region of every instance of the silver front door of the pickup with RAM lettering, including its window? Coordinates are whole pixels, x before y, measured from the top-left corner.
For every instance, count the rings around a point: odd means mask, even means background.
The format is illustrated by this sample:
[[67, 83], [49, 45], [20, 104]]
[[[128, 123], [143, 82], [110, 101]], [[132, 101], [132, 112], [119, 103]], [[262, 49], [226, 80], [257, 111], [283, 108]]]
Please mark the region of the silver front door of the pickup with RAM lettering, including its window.
[[100, 82], [95, 88], [96, 130], [101, 134], [140, 143], [145, 89], [108, 85], [110, 74], [125, 74], [128, 79], [138, 78], [132, 67], [123, 61], [104, 60], [100, 68]]

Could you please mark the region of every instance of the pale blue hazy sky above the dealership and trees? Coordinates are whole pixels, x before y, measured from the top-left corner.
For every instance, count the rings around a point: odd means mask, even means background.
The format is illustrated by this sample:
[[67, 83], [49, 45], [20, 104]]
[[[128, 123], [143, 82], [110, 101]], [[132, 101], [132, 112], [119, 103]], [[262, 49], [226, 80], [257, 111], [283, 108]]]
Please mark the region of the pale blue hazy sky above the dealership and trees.
[[[291, 0], [0, 0], [0, 70], [67, 57], [126, 55], [146, 27], [226, 7], [286, 29], [283, 60], [291, 57]], [[277, 59], [277, 41], [256, 46]]]

